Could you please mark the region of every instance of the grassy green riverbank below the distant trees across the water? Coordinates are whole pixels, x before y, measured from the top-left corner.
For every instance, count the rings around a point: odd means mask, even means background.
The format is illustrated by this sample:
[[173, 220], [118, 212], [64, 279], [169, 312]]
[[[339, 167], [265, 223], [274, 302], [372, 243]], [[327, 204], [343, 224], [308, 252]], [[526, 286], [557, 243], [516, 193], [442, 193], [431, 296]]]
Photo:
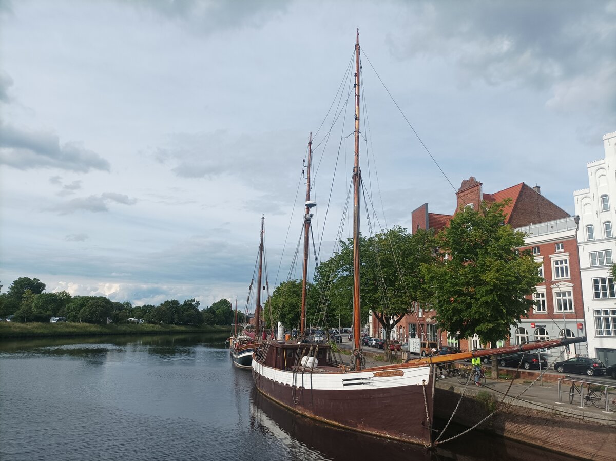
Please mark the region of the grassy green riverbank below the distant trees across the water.
[[36, 338], [98, 335], [160, 335], [164, 333], [230, 333], [230, 326], [180, 327], [176, 325], [123, 324], [92, 325], [72, 322], [30, 323], [0, 322], [0, 340], [4, 338]]

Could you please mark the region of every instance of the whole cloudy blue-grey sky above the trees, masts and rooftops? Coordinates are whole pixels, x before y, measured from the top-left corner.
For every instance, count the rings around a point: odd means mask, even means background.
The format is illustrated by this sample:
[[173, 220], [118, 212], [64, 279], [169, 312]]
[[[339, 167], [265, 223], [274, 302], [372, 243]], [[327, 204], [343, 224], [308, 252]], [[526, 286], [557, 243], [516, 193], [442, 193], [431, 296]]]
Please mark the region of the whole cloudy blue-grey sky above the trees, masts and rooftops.
[[453, 213], [470, 176], [574, 213], [616, 131], [616, 1], [0, 0], [2, 291], [241, 306], [262, 215], [270, 291], [299, 277], [310, 132], [327, 259], [356, 28], [372, 226]]

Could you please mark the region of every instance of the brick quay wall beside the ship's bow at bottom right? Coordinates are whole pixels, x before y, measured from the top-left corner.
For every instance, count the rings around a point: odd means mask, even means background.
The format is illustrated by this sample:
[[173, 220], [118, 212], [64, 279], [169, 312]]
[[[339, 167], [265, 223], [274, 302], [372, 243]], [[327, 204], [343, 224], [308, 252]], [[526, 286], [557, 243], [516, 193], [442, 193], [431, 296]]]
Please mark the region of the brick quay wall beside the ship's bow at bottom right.
[[[434, 395], [435, 417], [449, 420], [460, 401], [461, 391], [458, 386], [438, 383]], [[466, 427], [474, 426], [498, 406], [497, 399], [498, 396], [482, 391], [481, 388], [467, 389], [452, 421]], [[616, 461], [614, 418], [568, 409], [569, 412], [564, 414], [562, 407], [555, 407], [556, 404], [548, 402], [521, 402], [513, 399], [506, 399], [505, 402], [508, 400], [510, 402], [504, 403], [505, 407], [475, 430], [581, 459]], [[455, 434], [447, 431], [441, 440]]]

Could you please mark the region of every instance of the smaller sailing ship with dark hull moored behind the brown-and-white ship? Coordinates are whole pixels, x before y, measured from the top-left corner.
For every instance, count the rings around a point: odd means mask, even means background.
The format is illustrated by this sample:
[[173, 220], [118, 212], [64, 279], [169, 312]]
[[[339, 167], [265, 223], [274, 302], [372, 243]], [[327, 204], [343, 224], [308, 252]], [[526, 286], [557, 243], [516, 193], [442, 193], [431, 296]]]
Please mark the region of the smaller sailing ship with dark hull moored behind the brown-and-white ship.
[[[229, 338], [229, 349], [233, 364], [236, 367], [250, 369], [253, 362], [253, 353], [261, 345], [259, 341], [259, 333], [261, 327], [261, 278], [263, 272], [263, 233], [264, 233], [264, 216], [261, 216], [261, 239], [259, 240], [259, 253], [257, 255], [257, 292], [256, 303], [254, 308], [254, 330], [251, 330], [248, 326], [243, 327], [241, 332], [237, 332], [237, 300], [235, 301], [235, 335]], [[254, 280], [254, 279], [253, 279]], [[248, 288], [248, 298], [246, 305], [250, 301], [250, 292], [252, 291], [253, 284], [251, 282]]]

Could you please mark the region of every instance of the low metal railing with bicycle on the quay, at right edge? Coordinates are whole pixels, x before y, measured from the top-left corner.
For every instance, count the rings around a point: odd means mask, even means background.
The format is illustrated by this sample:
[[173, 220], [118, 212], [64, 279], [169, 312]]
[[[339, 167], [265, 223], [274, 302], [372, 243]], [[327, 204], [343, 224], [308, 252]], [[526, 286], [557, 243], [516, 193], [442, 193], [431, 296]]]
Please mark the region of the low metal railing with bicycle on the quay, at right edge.
[[578, 408], [591, 405], [606, 413], [616, 411], [616, 387], [598, 381], [574, 379], [570, 376], [558, 378], [558, 401], [563, 404], [562, 396], [569, 404], [578, 403]]

